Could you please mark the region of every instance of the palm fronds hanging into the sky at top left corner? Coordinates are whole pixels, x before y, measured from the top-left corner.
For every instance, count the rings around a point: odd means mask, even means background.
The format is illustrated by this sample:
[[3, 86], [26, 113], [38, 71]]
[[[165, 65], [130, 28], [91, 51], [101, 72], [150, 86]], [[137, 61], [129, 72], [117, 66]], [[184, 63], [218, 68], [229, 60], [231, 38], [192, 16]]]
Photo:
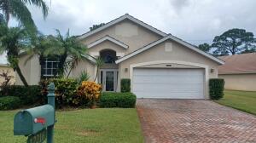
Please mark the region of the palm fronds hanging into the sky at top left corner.
[[0, 0], [0, 10], [3, 11], [5, 22], [9, 23], [10, 15], [30, 30], [36, 30], [36, 25], [32, 20], [32, 15], [27, 9], [27, 5], [34, 5], [42, 9], [44, 19], [48, 14], [48, 7], [44, 0]]

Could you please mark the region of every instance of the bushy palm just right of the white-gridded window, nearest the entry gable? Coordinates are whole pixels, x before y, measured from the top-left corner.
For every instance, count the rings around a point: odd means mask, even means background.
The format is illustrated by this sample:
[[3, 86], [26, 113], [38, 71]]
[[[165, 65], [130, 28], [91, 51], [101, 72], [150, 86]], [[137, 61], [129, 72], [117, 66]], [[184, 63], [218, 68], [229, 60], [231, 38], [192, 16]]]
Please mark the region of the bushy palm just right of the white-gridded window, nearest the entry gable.
[[[67, 68], [70, 67], [70, 70], [72, 70], [77, 65], [82, 58], [81, 55], [86, 54], [87, 48], [82, 43], [79, 43], [76, 37], [70, 37], [69, 30], [66, 36], [62, 36], [59, 30], [56, 30], [56, 33], [56, 37], [52, 39], [52, 42], [55, 43], [55, 49], [51, 53], [59, 55], [58, 74], [63, 76]], [[68, 56], [70, 56], [71, 60], [67, 60]]]

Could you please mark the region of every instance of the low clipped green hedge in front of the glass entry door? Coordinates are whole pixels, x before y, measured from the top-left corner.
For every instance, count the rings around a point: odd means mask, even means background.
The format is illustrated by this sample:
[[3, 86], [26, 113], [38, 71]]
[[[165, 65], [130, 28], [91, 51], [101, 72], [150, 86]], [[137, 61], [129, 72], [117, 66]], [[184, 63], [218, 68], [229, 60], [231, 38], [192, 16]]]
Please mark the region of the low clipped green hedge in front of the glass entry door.
[[99, 106], [101, 107], [121, 107], [134, 108], [136, 104], [136, 95], [132, 93], [102, 93]]

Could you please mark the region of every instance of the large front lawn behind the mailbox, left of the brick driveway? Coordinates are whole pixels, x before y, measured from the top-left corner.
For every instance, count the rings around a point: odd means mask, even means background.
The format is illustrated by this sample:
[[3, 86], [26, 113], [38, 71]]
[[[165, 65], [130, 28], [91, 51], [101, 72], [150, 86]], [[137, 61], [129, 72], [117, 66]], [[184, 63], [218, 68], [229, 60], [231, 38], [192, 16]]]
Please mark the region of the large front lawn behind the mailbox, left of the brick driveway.
[[[13, 135], [16, 112], [0, 112], [0, 142], [26, 142], [26, 137]], [[102, 108], [56, 112], [56, 119], [55, 143], [143, 142], [136, 109]]]

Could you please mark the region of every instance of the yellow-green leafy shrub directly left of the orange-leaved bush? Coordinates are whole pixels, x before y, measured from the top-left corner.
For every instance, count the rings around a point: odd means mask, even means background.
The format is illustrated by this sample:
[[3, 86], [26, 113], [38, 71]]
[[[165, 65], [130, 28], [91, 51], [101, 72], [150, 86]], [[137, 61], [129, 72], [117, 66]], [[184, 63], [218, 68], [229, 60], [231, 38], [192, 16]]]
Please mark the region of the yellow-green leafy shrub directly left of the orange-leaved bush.
[[41, 80], [40, 86], [42, 94], [47, 98], [49, 83], [55, 83], [55, 105], [58, 108], [62, 106], [71, 106], [73, 96], [77, 92], [78, 83], [72, 78], [53, 78]]

